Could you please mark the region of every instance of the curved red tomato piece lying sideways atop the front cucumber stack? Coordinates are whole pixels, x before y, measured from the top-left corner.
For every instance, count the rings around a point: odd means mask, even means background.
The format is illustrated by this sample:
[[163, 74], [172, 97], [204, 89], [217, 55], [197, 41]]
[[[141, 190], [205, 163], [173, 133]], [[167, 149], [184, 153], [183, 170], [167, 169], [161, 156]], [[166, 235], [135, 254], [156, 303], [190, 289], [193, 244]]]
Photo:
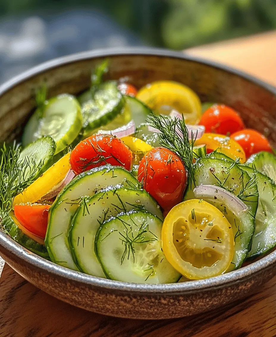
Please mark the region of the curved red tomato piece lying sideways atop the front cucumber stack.
[[132, 167], [133, 154], [122, 140], [111, 135], [97, 134], [80, 142], [71, 152], [70, 164], [75, 174], [111, 164]]

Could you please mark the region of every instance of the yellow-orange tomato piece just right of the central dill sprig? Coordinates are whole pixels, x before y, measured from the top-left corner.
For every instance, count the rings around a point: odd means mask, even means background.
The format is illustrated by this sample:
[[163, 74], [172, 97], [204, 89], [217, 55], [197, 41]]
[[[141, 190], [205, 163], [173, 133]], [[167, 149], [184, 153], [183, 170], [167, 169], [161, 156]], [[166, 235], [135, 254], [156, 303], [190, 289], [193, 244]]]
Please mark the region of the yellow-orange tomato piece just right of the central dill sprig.
[[214, 150], [236, 160], [240, 158], [240, 163], [246, 161], [243, 148], [236, 141], [228, 136], [218, 133], [204, 133], [203, 136], [195, 141], [195, 145], [206, 145], [207, 153]]

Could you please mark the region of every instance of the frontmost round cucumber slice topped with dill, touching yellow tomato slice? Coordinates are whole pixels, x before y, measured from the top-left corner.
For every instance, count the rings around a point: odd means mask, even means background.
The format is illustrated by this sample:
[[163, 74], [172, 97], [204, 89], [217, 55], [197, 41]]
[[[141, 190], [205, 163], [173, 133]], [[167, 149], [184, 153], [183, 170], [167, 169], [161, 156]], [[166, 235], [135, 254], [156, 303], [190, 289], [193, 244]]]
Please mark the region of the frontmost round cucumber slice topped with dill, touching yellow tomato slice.
[[161, 247], [162, 221], [148, 212], [129, 212], [105, 221], [96, 254], [107, 278], [135, 283], [173, 283], [180, 274]]

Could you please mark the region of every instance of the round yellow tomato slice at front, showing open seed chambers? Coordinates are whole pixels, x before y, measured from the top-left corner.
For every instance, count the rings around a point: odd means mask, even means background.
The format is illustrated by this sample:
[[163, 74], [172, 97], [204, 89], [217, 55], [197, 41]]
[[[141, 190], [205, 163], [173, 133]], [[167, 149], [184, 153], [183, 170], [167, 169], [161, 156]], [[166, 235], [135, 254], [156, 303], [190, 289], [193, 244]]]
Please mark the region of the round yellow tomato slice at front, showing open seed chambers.
[[176, 205], [162, 227], [162, 248], [170, 264], [188, 279], [222, 274], [234, 254], [230, 223], [213, 205], [192, 199]]

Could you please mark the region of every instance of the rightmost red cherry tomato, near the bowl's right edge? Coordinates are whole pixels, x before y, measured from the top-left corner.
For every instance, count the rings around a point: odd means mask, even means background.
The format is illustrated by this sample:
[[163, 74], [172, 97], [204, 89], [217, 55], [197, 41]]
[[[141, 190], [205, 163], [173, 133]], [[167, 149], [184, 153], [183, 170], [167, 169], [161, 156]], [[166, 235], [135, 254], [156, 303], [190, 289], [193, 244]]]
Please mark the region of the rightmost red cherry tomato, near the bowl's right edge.
[[256, 130], [244, 129], [231, 134], [231, 138], [240, 144], [246, 158], [260, 151], [272, 152], [272, 148], [266, 137]]

